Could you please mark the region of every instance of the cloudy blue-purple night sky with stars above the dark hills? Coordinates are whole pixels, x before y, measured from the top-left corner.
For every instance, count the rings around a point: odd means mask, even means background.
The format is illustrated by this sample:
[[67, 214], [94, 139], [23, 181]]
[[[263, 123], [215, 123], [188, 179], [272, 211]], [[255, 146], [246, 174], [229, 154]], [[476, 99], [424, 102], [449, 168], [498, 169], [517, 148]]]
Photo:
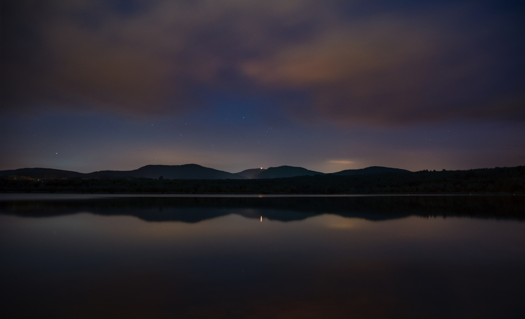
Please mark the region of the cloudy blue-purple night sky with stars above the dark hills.
[[522, 1], [2, 1], [0, 170], [525, 165]]

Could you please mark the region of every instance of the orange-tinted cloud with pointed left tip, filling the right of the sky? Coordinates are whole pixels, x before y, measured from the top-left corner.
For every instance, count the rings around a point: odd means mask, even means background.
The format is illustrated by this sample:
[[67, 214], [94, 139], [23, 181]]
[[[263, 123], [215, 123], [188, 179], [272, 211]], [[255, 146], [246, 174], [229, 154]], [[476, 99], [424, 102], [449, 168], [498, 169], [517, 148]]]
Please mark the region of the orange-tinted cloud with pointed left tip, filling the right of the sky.
[[498, 50], [478, 49], [490, 42], [479, 39], [487, 30], [451, 38], [439, 15], [422, 20], [382, 16], [346, 24], [246, 62], [243, 70], [262, 86], [308, 92], [310, 104], [296, 105], [296, 114], [310, 120], [391, 125], [525, 117], [516, 86], [523, 79], [509, 81], [509, 68], [523, 67], [517, 56], [502, 61]]

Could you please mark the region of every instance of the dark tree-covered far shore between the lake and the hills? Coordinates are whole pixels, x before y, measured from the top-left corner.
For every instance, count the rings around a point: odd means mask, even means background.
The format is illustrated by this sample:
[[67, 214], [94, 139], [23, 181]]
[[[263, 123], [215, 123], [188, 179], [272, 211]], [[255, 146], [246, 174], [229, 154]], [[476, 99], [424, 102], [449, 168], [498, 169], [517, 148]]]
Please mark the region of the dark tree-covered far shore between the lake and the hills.
[[167, 194], [523, 193], [525, 166], [269, 179], [0, 179], [0, 192]]

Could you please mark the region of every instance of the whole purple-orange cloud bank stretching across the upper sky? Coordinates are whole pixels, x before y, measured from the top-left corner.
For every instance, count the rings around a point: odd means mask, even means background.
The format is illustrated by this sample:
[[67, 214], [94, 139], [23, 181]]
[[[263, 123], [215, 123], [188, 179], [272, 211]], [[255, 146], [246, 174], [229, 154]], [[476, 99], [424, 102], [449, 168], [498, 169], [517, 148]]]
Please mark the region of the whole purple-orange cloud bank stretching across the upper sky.
[[2, 108], [162, 115], [219, 92], [343, 126], [525, 118], [519, 15], [392, 3], [7, 1]]

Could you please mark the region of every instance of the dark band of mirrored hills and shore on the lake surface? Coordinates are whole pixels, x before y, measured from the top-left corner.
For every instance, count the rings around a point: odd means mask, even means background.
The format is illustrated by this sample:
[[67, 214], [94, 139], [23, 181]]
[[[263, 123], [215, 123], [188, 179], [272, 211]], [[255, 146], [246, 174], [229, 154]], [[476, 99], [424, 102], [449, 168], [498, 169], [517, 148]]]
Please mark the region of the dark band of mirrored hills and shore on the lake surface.
[[27, 217], [91, 212], [129, 215], [146, 221], [198, 222], [228, 214], [270, 220], [302, 220], [336, 214], [368, 220], [407, 216], [525, 217], [522, 196], [384, 196], [384, 197], [125, 197], [86, 200], [0, 202], [1, 214]]

